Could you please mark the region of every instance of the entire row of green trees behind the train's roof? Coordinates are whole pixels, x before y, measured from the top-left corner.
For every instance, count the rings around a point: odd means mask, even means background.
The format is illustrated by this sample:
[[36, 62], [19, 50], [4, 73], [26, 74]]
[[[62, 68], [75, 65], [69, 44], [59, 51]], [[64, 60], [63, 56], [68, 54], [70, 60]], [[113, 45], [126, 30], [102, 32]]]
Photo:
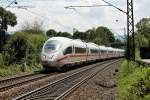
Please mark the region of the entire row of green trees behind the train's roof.
[[73, 35], [68, 32], [56, 32], [54, 29], [49, 29], [46, 32], [48, 37], [62, 36], [73, 39], [81, 39], [86, 42], [94, 42], [99, 45], [111, 46], [111, 43], [115, 42], [115, 37], [113, 33], [107, 27], [97, 27], [93, 29], [88, 29], [85, 32], [80, 32], [75, 30]]

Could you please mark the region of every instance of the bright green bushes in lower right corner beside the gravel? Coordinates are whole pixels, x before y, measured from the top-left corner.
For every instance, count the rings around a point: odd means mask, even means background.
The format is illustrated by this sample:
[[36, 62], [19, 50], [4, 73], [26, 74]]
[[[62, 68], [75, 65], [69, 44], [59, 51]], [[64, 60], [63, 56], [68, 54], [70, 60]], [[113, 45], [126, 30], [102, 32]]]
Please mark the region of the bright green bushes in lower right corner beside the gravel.
[[119, 100], [150, 100], [150, 68], [124, 61], [118, 80]]

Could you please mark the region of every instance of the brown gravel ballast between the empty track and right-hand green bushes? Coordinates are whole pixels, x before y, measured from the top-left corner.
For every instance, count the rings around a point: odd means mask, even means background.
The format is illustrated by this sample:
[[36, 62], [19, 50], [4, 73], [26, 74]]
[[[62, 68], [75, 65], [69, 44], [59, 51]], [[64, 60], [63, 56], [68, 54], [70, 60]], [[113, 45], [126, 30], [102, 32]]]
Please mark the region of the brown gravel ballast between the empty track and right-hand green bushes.
[[66, 100], [116, 100], [119, 63], [113, 64], [80, 86]]

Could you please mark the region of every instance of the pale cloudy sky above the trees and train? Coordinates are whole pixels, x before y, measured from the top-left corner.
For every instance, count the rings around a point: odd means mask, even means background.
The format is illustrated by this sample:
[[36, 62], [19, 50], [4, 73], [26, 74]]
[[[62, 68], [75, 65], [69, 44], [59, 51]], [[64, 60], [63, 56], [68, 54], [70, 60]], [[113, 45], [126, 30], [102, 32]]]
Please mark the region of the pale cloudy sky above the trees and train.
[[[0, 6], [6, 7], [13, 0], [0, 0]], [[66, 6], [104, 5], [102, 0], [16, 0], [17, 5], [28, 6], [28, 9], [8, 7], [15, 13], [18, 24], [9, 27], [8, 31], [17, 31], [25, 23], [35, 21], [43, 23], [44, 30], [55, 29], [73, 33], [73, 28], [86, 31], [93, 27], [106, 26], [115, 34], [123, 34], [126, 28], [126, 14], [113, 7], [93, 7], [65, 9]], [[105, 0], [126, 11], [126, 0]], [[150, 17], [150, 0], [133, 0], [135, 24], [144, 17]]]

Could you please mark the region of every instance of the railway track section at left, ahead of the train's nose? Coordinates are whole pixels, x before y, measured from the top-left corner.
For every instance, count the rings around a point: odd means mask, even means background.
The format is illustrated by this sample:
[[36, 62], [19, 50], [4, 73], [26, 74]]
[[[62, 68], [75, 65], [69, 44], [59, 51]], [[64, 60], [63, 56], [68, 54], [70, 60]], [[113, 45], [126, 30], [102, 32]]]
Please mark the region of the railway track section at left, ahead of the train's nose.
[[14, 78], [9, 78], [0, 81], [0, 92], [7, 91], [14, 87], [18, 87], [30, 82], [34, 82], [46, 77], [49, 77], [52, 74], [27, 74], [23, 76], [17, 76]]

